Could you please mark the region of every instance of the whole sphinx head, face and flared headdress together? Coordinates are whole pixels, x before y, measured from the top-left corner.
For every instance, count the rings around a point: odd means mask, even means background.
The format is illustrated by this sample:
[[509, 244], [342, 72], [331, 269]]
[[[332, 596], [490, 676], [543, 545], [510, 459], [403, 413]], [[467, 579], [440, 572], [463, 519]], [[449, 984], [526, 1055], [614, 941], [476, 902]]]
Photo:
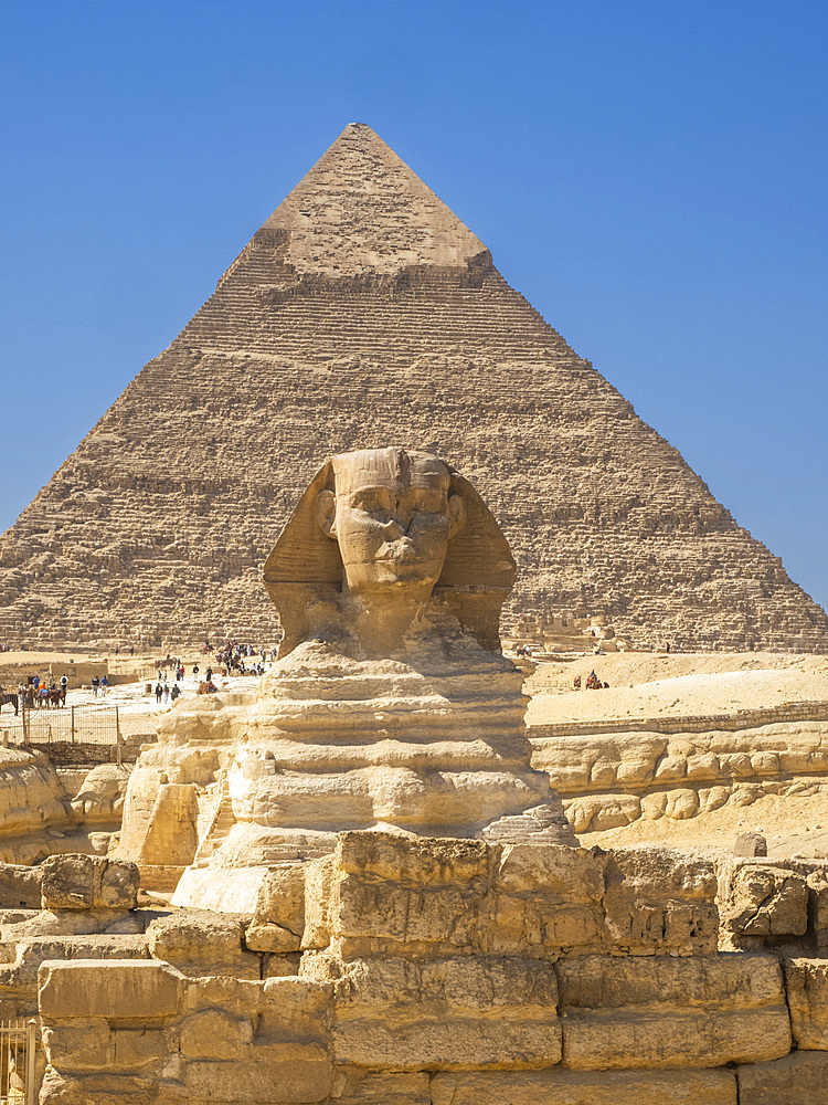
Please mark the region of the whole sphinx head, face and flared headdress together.
[[434, 598], [488, 649], [514, 581], [506, 538], [480, 496], [429, 453], [340, 453], [302, 495], [265, 564], [284, 630], [280, 655], [347, 623], [392, 654]]

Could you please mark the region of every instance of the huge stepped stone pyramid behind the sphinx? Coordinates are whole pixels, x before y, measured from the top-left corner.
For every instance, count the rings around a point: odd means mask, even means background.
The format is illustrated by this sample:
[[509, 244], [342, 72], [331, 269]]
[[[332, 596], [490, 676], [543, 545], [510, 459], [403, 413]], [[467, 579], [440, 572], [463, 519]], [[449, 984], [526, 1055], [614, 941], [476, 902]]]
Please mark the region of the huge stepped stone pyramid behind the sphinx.
[[0, 639], [272, 642], [262, 565], [301, 491], [331, 453], [390, 443], [492, 509], [518, 562], [507, 628], [828, 650], [782, 562], [361, 124], [0, 538]]

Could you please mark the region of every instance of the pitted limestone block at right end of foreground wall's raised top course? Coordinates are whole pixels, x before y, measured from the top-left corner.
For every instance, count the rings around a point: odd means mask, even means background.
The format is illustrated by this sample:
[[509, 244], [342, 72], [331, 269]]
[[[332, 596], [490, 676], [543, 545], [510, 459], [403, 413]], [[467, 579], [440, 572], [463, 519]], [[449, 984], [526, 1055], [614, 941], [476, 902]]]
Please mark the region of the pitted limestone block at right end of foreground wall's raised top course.
[[713, 953], [715, 892], [710, 860], [652, 845], [615, 849], [606, 860], [604, 946], [633, 955]]

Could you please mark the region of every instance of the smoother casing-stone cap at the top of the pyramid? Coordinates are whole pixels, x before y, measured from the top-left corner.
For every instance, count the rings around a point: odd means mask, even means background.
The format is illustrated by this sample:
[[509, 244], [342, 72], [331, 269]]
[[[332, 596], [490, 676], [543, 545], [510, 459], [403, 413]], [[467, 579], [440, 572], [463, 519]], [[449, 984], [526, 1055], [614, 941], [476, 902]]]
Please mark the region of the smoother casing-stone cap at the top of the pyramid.
[[287, 232], [297, 275], [463, 266], [486, 251], [365, 123], [349, 123], [261, 230]]

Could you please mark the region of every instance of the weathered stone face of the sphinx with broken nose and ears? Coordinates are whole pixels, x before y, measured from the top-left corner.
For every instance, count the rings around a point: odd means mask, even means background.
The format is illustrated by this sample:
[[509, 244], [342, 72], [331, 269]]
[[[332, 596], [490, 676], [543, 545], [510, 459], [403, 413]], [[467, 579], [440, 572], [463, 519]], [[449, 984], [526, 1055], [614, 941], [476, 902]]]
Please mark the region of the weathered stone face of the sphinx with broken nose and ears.
[[335, 457], [335, 476], [330, 534], [347, 590], [431, 594], [464, 515], [446, 465], [401, 449], [361, 450]]

